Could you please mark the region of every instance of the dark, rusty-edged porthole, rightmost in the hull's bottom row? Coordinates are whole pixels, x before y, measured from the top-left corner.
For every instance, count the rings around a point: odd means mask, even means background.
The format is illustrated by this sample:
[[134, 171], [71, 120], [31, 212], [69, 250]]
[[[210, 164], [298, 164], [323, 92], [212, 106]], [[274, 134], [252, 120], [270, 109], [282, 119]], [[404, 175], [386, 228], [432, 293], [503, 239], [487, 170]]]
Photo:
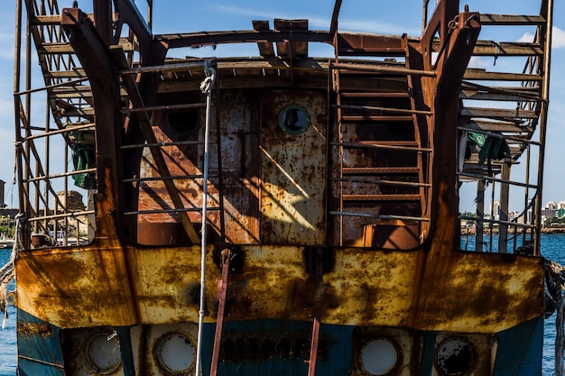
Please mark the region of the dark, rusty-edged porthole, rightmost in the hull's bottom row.
[[466, 340], [449, 338], [438, 347], [435, 361], [442, 376], [463, 376], [471, 370], [475, 352]]

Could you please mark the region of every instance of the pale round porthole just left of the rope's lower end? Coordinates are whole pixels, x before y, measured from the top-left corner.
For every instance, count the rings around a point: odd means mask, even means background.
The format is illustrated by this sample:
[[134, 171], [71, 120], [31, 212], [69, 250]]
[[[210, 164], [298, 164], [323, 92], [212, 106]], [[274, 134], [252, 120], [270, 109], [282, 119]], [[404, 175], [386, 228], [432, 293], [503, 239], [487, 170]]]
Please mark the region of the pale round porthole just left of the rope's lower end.
[[154, 355], [164, 371], [172, 375], [187, 375], [196, 362], [196, 347], [186, 335], [172, 332], [159, 338]]

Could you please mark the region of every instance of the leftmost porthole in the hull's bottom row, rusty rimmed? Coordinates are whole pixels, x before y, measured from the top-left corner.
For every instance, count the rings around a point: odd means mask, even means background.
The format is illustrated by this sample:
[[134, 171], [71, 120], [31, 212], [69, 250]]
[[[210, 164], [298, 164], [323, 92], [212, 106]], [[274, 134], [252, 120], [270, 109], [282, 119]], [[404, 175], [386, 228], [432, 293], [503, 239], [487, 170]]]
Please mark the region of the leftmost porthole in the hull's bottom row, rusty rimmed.
[[98, 332], [90, 335], [86, 345], [88, 366], [99, 374], [116, 371], [122, 363], [120, 342], [117, 335]]

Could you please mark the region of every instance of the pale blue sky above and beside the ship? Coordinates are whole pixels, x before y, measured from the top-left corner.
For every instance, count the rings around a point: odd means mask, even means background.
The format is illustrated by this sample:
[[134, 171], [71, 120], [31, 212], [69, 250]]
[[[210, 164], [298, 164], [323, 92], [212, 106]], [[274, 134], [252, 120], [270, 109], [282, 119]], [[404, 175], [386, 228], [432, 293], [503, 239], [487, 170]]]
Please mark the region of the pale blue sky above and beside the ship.
[[[310, 20], [310, 29], [327, 30], [333, 10], [331, 0], [253, 0], [246, 2], [215, 1], [191, 2], [153, 0], [153, 32], [200, 32], [204, 30], [249, 30], [252, 20], [274, 18]], [[60, 0], [60, 7], [70, 6], [71, 0]], [[431, 3], [433, 3], [431, 1]], [[490, 14], [538, 14], [539, 1], [515, 2], [509, 0], [468, 0], [470, 11]], [[542, 202], [565, 200], [565, 2], [556, 1], [554, 9], [553, 55], [551, 65], [551, 103], [546, 147], [546, 178]], [[140, 12], [145, 14], [143, 0], [137, 0]], [[339, 18], [340, 30], [377, 32], [384, 34], [421, 33], [421, 0], [344, 0]], [[386, 6], [388, 5], [388, 6]], [[79, 7], [88, 11], [90, 1], [79, 1]], [[14, 174], [14, 20], [15, 1], [5, 1], [0, 14], [0, 179], [6, 181], [5, 203], [17, 205], [17, 195], [12, 200], [11, 182]], [[510, 10], [510, 11], [509, 11]], [[484, 30], [486, 32], [486, 30]], [[527, 38], [523, 30], [505, 36], [507, 41]], [[480, 38], [486, 38], [482, 35]], [[220, 46], [218, 50], [181, 50], [177, 56], [229, 56], [241, 55], [236, 45]], [[248, 53], [256, 55], [256, 45], [248, 46]], [[247, 52], [245, 52], [247, 53]], [[325, 46], [310, 46], [310, 54], [329, 56]], [[492, 61], [475, 61], [477, 66]], [[44, 106], [42, 105], [43, 111]], [[37, 119], [40, 119], [38, 116]], [[472, 196], [472, 195], [471, 195]], [[473, 197], [463, 197], [462, 208], [472, 208]], [[512, 207], [511, 207], [512, 208]]]

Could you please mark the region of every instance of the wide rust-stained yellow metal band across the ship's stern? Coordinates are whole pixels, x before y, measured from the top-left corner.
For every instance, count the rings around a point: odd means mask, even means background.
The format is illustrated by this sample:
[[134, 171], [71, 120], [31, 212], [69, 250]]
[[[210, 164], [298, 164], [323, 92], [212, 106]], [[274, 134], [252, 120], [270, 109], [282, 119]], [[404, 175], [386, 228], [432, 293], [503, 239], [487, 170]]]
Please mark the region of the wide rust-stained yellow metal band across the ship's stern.
[[[496, 333], [543, 314], [537, 257], [452, 252], [444, 265], [423, 251], [350, 248], [335, 250], [333, 271], [319, 283], [306, 271], [301, 247], [242, 250], [243, 269], [231, 274], [227, 291], [227, 321], [319, 315], [325, 324]], [[442, 275], [420, 280], [428, 269]], [[17, 272], [24, 282], [19, 307], [56, 326], [198, 320], [198, 246], [23, 252]], [[210, 248], [208, 322], [215, 321], [220, 279]]]

